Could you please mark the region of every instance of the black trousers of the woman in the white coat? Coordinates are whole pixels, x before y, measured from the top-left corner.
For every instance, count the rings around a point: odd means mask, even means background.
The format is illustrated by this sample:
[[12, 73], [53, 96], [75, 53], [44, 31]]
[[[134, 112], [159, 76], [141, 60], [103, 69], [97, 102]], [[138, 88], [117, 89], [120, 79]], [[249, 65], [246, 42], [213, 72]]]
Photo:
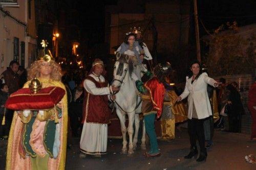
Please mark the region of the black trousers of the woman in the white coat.
[[197, 139], [199, 141], [200, 152], [205, 153], [205, 138], [204, 138], [204, 120], [192, 118], [188, 119], [188, 134], [190, 139], [190, 147], [197, 146]]

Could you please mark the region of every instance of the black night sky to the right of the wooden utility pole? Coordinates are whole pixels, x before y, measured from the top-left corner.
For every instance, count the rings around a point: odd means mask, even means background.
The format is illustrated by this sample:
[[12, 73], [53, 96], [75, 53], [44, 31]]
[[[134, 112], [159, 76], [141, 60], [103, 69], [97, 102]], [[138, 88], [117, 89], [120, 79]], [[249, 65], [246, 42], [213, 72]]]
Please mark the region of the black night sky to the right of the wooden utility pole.
[[255, 8], [255, 0], [198, 1], [199, 17], [208, 30], [216, 29], [227, 21], [237, 21], [239, 27], [256, 23]]

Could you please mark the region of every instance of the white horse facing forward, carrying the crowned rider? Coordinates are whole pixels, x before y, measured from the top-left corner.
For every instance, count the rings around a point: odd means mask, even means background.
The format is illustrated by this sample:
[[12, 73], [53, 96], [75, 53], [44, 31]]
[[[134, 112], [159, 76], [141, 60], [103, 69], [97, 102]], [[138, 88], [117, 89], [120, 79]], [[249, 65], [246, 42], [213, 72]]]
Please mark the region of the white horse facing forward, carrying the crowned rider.
[[[137, 147], [138, 130], [139, 130], [139, 113], [141, 112], [141, 100], [136, 93], [135, 82], [131, 79], [133, 71], [133, 62], [130, 60], [128, 55], [120, 55], [114, 65], [114, 80], [112, 85], [118, 86], [119, 91], [115, 94], [115, 107], [116, 113], [120, 120], [121, 132], [123, 136], [123, 148], [121, 154], [127, 153], [127, 140], [126, 132], [129, 134], [129, 151], [127, 156], [132, 156]], [[125, 126], [125, 115], [128, 115], [129, 125], [126, 129]], [[135, 135], [133, 138], [133, 125], [135, 122]], [[143, 134], [141, 139], [141, 149], [145, 150], [145, 128], [143, 124]]]

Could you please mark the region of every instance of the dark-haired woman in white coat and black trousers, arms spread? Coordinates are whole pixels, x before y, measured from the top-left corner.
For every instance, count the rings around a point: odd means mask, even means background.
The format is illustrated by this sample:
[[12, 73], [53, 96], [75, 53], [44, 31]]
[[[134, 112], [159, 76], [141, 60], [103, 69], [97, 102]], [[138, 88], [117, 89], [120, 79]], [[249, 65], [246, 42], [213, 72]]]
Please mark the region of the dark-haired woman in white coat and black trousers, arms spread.
[[205, 149], [204, 120], [212, 115], [211, 106], [207, 94], [207, 84], [217, 87], [219, 85], [214, 79], [208, 77], [198, 61], [190, 64], [190, 73], [186, 77], [184, 92], [176, 99], [179, 102], [187, 96], [188, 101], [188, 134], [190, 139], [190, 152], [185, 159], [198, 155], [196, 139], [199, 140], [200, 156], [198, 162], [205, 161], [207, 152]]

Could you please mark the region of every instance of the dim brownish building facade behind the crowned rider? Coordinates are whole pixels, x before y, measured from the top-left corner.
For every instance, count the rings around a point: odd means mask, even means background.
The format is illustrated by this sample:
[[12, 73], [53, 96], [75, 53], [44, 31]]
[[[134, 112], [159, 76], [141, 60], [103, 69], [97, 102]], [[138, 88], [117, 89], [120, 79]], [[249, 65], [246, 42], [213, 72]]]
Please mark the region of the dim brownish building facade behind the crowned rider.
[[[172, 61], [180, 48], [188, 44], [190, 28], [189, 1], [125, 1], [105, 8], [105, 42], [114, 54], [130, 28], [142, 29], [142, 36], [153, 58]], [[184, 49], [183, 49], [184, 50]], [[157, 61], [156, 61], [157, 62]]]

